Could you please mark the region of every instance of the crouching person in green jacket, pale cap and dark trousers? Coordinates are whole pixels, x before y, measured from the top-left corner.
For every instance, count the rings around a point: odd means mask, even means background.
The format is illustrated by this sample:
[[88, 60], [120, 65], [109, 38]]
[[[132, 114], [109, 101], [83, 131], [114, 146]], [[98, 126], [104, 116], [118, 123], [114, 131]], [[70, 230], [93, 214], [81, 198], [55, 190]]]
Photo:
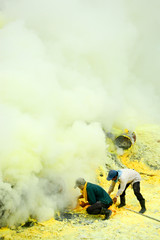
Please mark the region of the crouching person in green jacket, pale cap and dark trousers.
[[104, 220], [109, 219], [112, 211], [108, 208], [112, 205], [113, 201], [101, 186], [86, 182], [84, 178], [78, 178], [74, 188], [76, 187], [81, 190], [81, 197], [86, 202], [82, 202], [81, 206], [90, 205], [86, 209], [88, 214], [102, 214], [105, 215]]

